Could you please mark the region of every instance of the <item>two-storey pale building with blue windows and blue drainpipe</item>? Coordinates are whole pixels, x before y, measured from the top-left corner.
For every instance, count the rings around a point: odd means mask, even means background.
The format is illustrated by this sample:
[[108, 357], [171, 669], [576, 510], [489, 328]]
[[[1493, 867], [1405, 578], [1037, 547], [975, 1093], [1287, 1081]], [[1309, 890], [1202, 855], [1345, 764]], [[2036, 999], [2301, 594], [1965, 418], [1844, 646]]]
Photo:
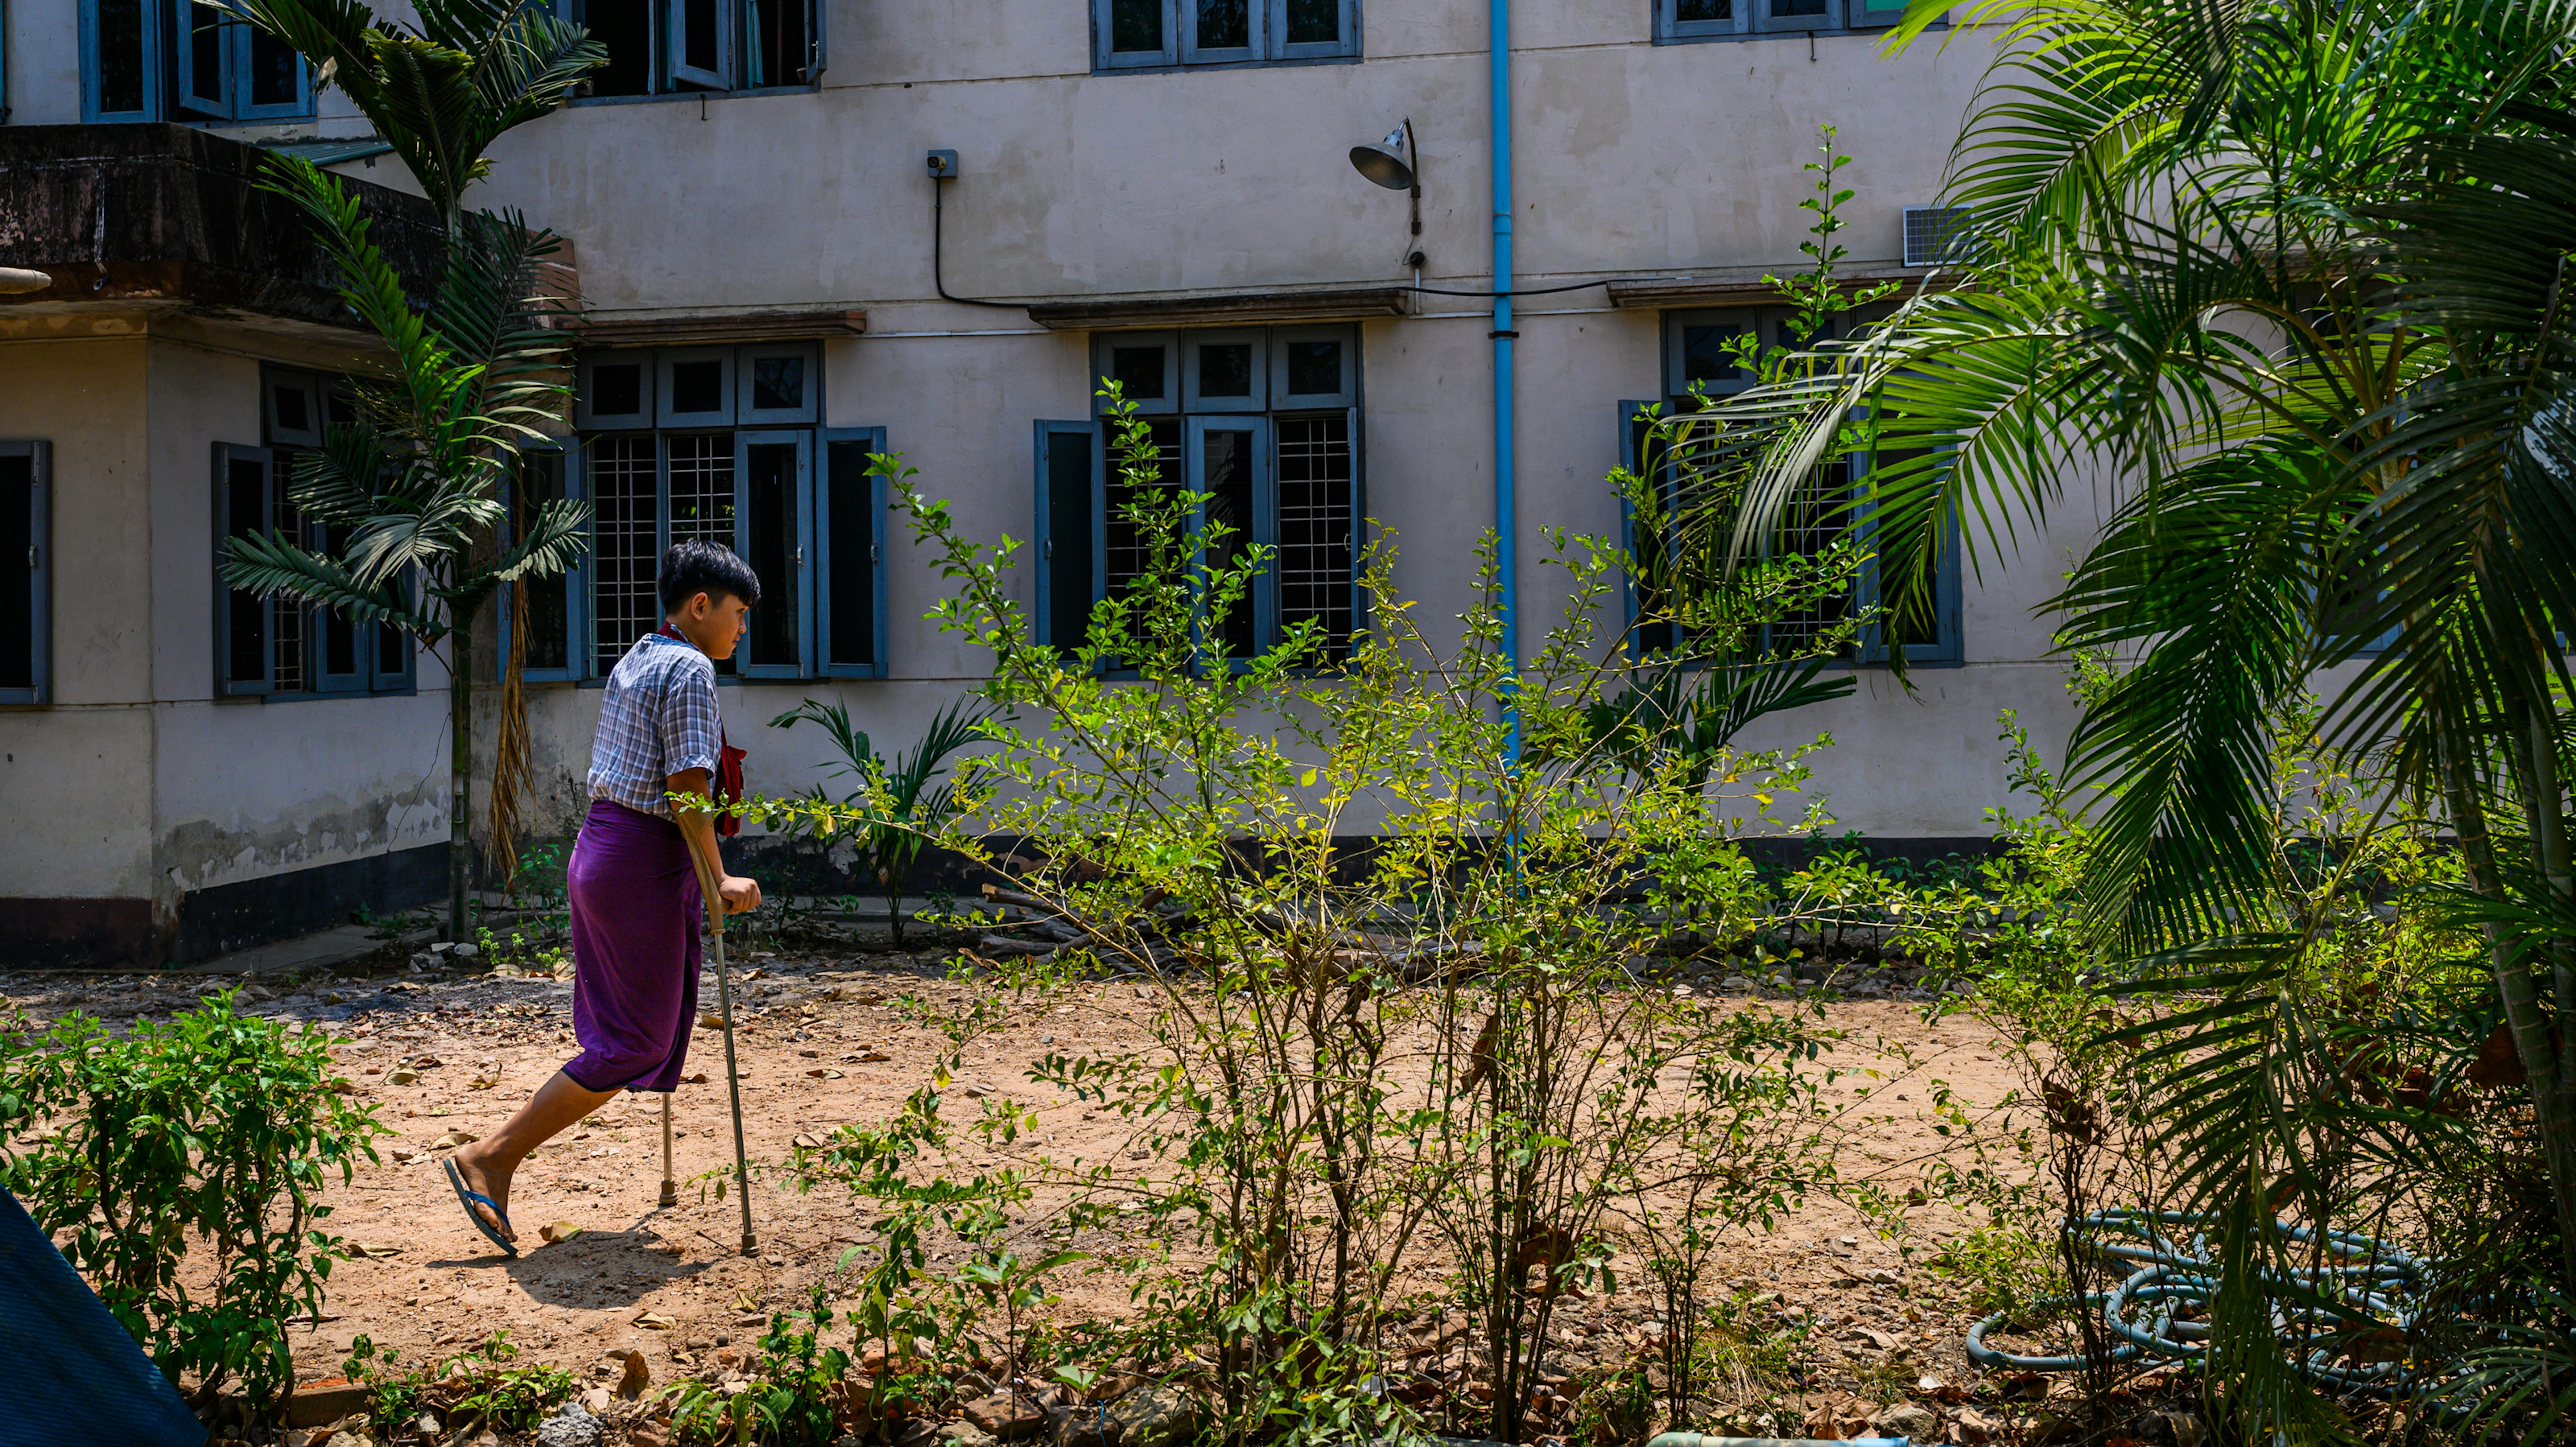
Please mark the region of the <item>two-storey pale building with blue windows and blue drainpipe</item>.
[[[611, 64], [471, 196], [569, 237], [587, 306], [544, 476], [590, 499], [592, 554], [531, 592], [523, 639], [541, 834], [577, 819], [592, 685], [654, 621], [672, 538], [732, 541], [768, 584], [729, 685], [752, 788], [817, 778], [814, 731], [760, 729], [799, 698], [902, 744], [974, 687], [871, 451], [971, 533], [1033, 541], [1018, 584], [1041, 628], [1074, 626], [1131, 566], [1103, 376], [1275, 543], [1249, 641], [1347, 628], [1373, 536], [1425, 615], [1455, 615], [1489, 528], [1535, 641], [1561, 605], [1543, 528], [1620, 530], [1623, 417], [1728, 386], [1726, 337], [1777, 340], [1762, 275], [1801, 265], [1816, 129], [1855, 157], [1847, 273], [1922, 278], [1991, 59], [1986, 31], [1888, 57], [1870, 0], [582, 18]], [[0, 268], [44, 273], [0, 294], [0, 958], [193, 958], [430, 899], [440, 664], [214, 577], [227, 530], [278, 520], [281, 458], [366, 350], [252, 160], [376, 183], [425, 245], [410, 180], [294, 54], [185, 0], [18, 0], [0, 116]], [[1814, 788], [1844, 826], [1981, 837], [1996, 713], [2063, 736], [2032, 602], [2087, 523], [1965, 584], [1953, 556], [1940, 626], [1904, 641], [1914, 693], [1862, 649], [1852, 698], [1762, 742], [1834, 734]]]

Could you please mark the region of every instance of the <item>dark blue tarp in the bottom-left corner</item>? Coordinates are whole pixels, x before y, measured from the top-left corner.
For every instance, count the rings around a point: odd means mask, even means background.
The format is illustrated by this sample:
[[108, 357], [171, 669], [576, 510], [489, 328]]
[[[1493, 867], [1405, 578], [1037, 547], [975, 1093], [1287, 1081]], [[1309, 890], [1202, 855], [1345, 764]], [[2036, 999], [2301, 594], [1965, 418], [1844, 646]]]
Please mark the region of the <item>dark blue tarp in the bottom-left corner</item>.
[[206, 1426], [0, 1190], [0, 1447], [201, 1447]]

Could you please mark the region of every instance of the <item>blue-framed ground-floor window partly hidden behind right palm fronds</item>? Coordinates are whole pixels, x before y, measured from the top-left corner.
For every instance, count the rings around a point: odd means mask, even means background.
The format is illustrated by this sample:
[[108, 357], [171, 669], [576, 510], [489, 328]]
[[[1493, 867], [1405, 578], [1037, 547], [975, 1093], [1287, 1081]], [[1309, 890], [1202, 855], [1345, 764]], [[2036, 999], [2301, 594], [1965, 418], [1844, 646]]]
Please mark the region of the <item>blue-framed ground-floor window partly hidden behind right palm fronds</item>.
[[[1698, 397], [1721, 397], [1752, 386], [1752, 376], [1739, 371], [1734, 355], [1726, 353], [1726, 342], [1734, 337], [1757, 337], [1765, 345], [1795, 345], [1788, 337], [1785, 309], [1664, 314], [1667, 397], [1659, 404], [1662, 415], [1692, 412]], [[1698, 389], [1698, 397], [1692, 389]], [[1680, 639], [1669, 621], [1674, 577], [1685, 561], [1680, 548], [1721, 546], [1721, 536], [1716, 528], [1682, 530], [1674, 525], [1674, 518], [1695, 502], [1687, 492], [1698, 469], [1687, 451], [1698, 435], [1685, 433], [1680, 440], [1669, 435], [1656, 440], [1646, 417], [1649, 409], [1656, 409], [1656, 404], [1620, 402], [1620, 448], [1628, 466], [1656, 489], [1659, 515], [1638, 520], [1625, 499], [1620, 512], [1633, 559], [1628, 587], [1633, 644], [1638, 651], [1656, 654], [1687, 649], [1687, 639]], [[1855, 613], [1870, 613], [1873, 621], [1860, 628], [1857, 644], [1842, 649], [1844, 659], [1886, 662], [1888, 649], [1896, 646], [1906, 651], [1909, 664], [1955, 664], [1963, 659], [1958, 548], [1950, 546], [1955, 528], [1945, 530], [1937, 556], [1929, 559], [1929, 569], [1922, 569], [1932, 577], [1929, 608], [1880, 613], [1880, 600], [1886, 597], [1883, 579], [1917, 577], [1919, 569], [1914, 566], [1917, 559], [1891, 559], [1878, 548], [1868, 515], [1868, 476], [1875, 461], [1868, 453], [1829, 461], [1806, 489], [1790, 497], [1780, 533], [1772, 538], [1780, 554], [1821, 556], [1837, 543], [1850, 541], [1860, 548], [1862, 561], [1847, 592], [1821, 597], [1811, 608], [1772, 621], [1759, 639], [1765, 651], [1801, 651], [1821, 633], [1847, 623]]]

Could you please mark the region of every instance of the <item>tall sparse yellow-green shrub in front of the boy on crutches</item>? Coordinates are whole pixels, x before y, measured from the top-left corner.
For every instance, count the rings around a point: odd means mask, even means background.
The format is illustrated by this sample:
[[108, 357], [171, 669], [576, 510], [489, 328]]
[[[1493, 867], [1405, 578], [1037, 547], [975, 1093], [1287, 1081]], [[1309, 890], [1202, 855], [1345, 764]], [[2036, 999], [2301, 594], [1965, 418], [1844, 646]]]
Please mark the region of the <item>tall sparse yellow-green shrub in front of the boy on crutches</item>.
[[[1600, 631], [1623, 569], [1607, 541], [1551, 533], [1569, 602], [1528, 667], [1499, 646], [1489, 551], [1448, 644], [1391, 590], [1386, 541], [1363, 559], [1363, 631], [1293, 621], [1278, 646], [1229, 657], [1226, 618], [1267, 551], [1162, 479], [1115, 391], [1110, 409], [1121, 518], [1146, 564], [1069, 649], [1033, 641], [1005, 579], [1015, 543], [971, 543], [878, 461], [953, 582], [933, 615], [992, 651], [984, 695], [1007, 711], [981, 724], [989, 747], [961, 765], [938, 842], [1002, 868], [1005, 901], [1072, 937], [992, 971], [1041, 999], [1118, 971], [1149, 1020], [1136, 1048], [1059, 1048], [1030, 1069], [1126, 1123], [1110, 1161], [1038, 1166], [1072, 1195], [1043, 1226], [999, 1236], [1018, 1179], [917, 1179], [943, 1079], [894, 1128], [806, 1153], [876, 1223], [868, 1334], [956, 1349], [963, 1323], [992, 1323], [1023, 1375], [1208, 1362], [1224, 1432], [1417, 1432], [1370, 1388], [1388, 1370], [1376, 1321], [1437, 1254], [1497, 1388], [1492, 1416], [1453, 1403], [1448, 1426], [1520, 1434], [1558, 1303], [1618, 1285], [1607, 1262], [1641, 1218], [1692, 1215], [1705, 1254], [1811, 1190], [1862, 1187], [1829, 1166], [1852, 1110], [1824, 1063], [1842, 1032], [1806, 1007], [1703, 1009], [1641, 968], [1896, 896], [1847, 865], [1801, 873], [1793, 888], [1814, 893], [1775, 891], [1739, 850], [1747, 829], [1785, 826], [1775, 808], [1806, 749], [1682, 742], [1682, 724], [1643, 713], [1620, 749], [1600, 747], [1605, 695], [1667, 667]], [[814, 832], [884, 819], [868, 798], [814, 796], [744, 814]], [[1350, 834], [1370, 850], [1352, 857]], [[994, 837], [1020, 839], [1010, 860]], [[963, 1043], [989, 1020], [951, 1025]], [[1007, 1138], [1018, 1112], [989, 1099], [981, 1125]], [[963, 1246], [963, 1269], [925, 1269], [933, 1233]], [[1077, 1236], [1097, 1254], [1069, 1254]], [[1033, 1329], [1066, 1269], [1123, 1280], [1133, 1326]]]

